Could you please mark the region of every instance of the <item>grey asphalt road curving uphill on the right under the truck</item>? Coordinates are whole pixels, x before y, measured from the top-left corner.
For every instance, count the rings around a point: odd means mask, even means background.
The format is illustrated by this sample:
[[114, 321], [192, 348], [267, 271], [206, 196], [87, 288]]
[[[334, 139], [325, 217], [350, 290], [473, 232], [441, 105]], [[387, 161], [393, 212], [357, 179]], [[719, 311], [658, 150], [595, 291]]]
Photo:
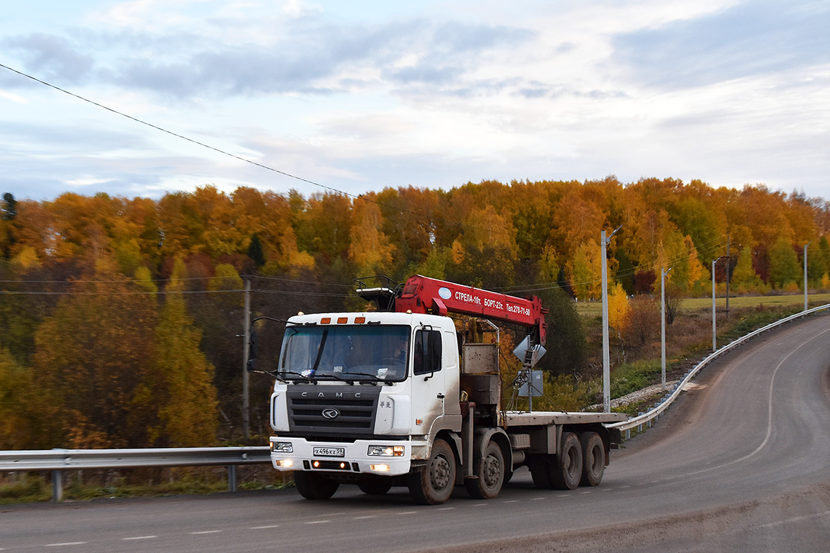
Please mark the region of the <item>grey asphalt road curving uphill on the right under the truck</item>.
[[0, 551], [830, 551], [830, 317], [707, 368], [603, 483], [491, 501], [403, 488], [325, 502], [294, 490], [0, 507]]

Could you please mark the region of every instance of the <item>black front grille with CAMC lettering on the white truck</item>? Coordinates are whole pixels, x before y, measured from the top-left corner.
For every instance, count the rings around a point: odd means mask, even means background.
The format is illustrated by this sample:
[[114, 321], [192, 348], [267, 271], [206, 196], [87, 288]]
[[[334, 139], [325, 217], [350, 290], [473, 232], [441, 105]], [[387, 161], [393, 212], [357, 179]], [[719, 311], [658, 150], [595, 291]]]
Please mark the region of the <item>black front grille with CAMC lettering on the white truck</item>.
[[336, 434], [363, 438], [374, 435], [380, 388], [295, 385], [288, 390], [288, 421], [291, 433]]

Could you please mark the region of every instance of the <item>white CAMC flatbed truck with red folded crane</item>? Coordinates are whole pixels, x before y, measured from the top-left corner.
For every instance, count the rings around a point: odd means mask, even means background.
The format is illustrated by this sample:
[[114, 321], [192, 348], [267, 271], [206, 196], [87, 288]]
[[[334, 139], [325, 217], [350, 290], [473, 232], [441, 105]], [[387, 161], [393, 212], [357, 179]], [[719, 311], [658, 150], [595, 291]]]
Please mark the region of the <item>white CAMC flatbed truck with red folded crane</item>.
[[[517, 468], [538, 488], [596, 486], [619, 443], [618, 413], [505, 410], [496, 323], [527, 332], [519, 379], [544, 354], [546, 310], [516, 298], [419, 275], [359, 295], [363, 313], [291, 317], [271, 395], [271, 462], [297, 490], [328, 499], [340, 484], [415, 502], [446, 502], [463, 484], [496, 497]], [[450, 314], [463, 316], [456, 321]], [[496, 340], [493, 340], [493, 335]], [[256, 332], [248, 370], [256, 371]]]

